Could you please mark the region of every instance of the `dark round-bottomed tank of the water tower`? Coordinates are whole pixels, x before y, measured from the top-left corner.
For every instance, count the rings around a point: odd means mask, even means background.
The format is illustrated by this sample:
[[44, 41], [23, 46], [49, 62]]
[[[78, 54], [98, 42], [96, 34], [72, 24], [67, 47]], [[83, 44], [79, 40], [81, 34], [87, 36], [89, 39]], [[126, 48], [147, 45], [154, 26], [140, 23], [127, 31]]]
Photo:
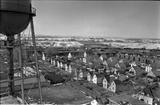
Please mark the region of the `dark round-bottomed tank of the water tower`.
[[0, 33], [10, 36], [22, 32], [31, 16], [31, 0], [0, 0]]

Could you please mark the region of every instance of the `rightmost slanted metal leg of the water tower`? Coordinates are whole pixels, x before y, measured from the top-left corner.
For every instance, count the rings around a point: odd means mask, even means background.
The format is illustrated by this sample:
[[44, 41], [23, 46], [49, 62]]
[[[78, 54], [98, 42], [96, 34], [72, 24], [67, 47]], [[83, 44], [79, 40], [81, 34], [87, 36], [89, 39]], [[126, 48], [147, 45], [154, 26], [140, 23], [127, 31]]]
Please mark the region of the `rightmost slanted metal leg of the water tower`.
[[31, 18], [32, 18], [31, 19], [31, 32], [32, 32], [32, 41], [33, 41], [33, 47], [34, 47], [34, 57], [35, 57], [35, 62], [36, 62], [37, 81], [38, 81], [38, 87], [39, 87], [40, 104], [42, 104], [42, 88], [41, 88], [41, 81], [40, 81], [40, 72], [38, 69], [38, 58], [37, 58], [37, 50], [36, 50], [33, 17], [31, 17]]

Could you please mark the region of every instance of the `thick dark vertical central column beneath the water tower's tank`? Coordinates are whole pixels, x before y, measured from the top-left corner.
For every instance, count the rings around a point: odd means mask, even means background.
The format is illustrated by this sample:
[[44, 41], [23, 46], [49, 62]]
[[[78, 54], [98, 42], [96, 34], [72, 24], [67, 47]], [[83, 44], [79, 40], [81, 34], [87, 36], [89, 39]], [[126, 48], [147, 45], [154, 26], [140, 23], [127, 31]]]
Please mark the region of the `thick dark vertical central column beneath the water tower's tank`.
[[9, 94], [14, 96], [14, 64], [13, 64], [13, 44], [14, 36], [10, 35], [7, 37], [8, 41], [8, 52], [9, 52]]

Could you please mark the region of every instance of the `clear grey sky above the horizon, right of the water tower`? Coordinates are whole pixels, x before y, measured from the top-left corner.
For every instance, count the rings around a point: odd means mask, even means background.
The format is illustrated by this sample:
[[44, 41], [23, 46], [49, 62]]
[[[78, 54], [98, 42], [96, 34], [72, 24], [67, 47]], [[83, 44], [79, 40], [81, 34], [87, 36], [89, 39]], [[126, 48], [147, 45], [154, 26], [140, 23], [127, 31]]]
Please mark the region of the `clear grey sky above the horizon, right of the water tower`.
[[38, 35], [160, 38], [158, 1], [33, 0]]

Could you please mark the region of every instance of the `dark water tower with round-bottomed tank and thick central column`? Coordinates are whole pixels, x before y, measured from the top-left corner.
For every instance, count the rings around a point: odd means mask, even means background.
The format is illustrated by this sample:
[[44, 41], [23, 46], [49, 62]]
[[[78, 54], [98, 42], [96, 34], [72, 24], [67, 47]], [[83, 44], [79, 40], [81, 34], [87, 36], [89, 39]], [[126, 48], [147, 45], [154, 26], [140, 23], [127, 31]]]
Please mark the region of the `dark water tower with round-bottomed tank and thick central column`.
[[[14, 95], [14, 35], [20, 34], [31, 22], [32, 38], [34, 44], [35, 35], [33, 27], [33, 16], [35, 16], [35, 9], [32, 8], [31, 0], [0, 0], [0, 33], [7, 36], [10, 80], [9, 92], [11, 95]], [[34, 46], [36, 45], [34, 44]]]

